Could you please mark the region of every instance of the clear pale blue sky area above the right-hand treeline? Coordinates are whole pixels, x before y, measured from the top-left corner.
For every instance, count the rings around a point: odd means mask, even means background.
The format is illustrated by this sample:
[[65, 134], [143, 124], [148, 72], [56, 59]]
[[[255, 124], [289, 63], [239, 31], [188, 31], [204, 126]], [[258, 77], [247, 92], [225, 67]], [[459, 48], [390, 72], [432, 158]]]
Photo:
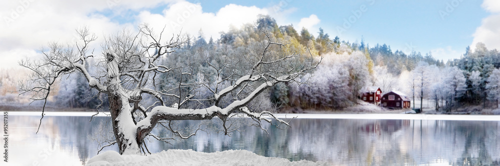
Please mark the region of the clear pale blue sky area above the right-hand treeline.
[[[189, 0], [196, 2], [196, 0]], [[376, 43], [389, 44], [396, 49], [422, 53], [449, 47], [456, 52], [436, 58], [459, 58], [465, 47], [472, 43], [475, 29], [488, 13], [479, 0], [324, 0], [320, 2], [300, 0], [252, 0], [252, 1], [199, 1], [203, 11], [216, 12], [228, 3], [260, 8], [279, 5], [294, 9], [286, 20], [279, 24], [296, 23], [300, 18], [317, 15], [320, 22], [311, 32], [322, 27], [330, 36], [342, 40], [363, 39], [370, 46]], [[361, 11], [363, 9], [364, 11]], [[361, 11], [361, 12], [359, 12]], [[357, 14], [361, 13], [361, 14]], [[354, 16], [354, 17], [353, 17]], [[359, 16], [359, 17], [358, 17]], [[349, 20], [350, 18], [350, 20]], [[354, 19], [355, 18], [355, 19]], [[352, 21], [354, 20], [354, 21]], [[349, 25], [350, 24], [350, 25]], [[349, 27], [349, 28], [344, 28]], [[345, 31], [343, 31], [345, 29]], [[442, 53], [441, 53], [442, 54]]]

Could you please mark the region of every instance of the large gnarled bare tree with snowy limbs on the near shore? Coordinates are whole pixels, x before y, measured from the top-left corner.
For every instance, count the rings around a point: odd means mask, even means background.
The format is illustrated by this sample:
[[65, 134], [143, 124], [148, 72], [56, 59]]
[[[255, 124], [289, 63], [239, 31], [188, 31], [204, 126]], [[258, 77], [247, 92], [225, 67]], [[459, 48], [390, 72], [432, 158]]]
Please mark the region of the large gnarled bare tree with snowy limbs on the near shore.
[[[261, 129], [260, 124], [272, 124], [271, 119], [277, 122], [273, 124], [275, 126], [282, 124], [289, 127], [287, 122], [276, 118], [272, 113], [256, 112], [247, 106], [267, 88], [279, 82], [295, 81], [295, 78], [315, 68], [320, 62], [313, 61], [312, 57], [307, 60], [308, 58], [299, 57], [298, 54], [284, 54], [282, 49], [286, 44], [272, 42], [272, 35], [265, 31], [261, 31], [261, 41], [234, 52], [240, 58], [234, 58], [237, 61], [232, 63], [215, 65], [200, 59], [198, 55], [185, 54], [189, 65], [174, 67], [162, 65], [160, 59], [180, 50], [187, 42], [184, 35], [174, 35], [164, 41], [163, 31], [155, 34], [149, 26], [141, 25], [137, 33], [123, 30], [105, 38], [101, 44], [102, 53], [94, 55], [93, 52], [89, 53], [88, 44], [96, 39], [95, 35], [87, 28], [77, 32], [82, 43], [66, 46], [51, 43], [48, 50], [42, 51], [42, 59], [20, 62], [21, 66], [30, 69], [33, 74], [19, 91], [33, 93], [33, 100], [46, 102], [57, 79], [66, 74], [81, 72], [89, 87], [107, 95], [115, 137], [115, 142], [111, 144], [118, 145], [120, 154], [139, 154], [141, 149], [144, 152], [143, 140], [146, 137], [167, 140], [168, 138], [150, 133], [157, 125], [182, 139], [201, 130], [198, 128], [185, 134], [172, 125], [175, 120], [210, 120], [218, 117], [226, 135], [238, 131], [231, 123], [226, 123], [231, 117], [249, 117], [253, 120], [253, 125]], [[89, 58], [100, 60], [100, 73], [92, 75], [87, 72], [84, 66]], [[200, 72], [196, 70], [195, 62], [207, 64], [217, 72]], [[231, 74], [222, 76], [222, 70]], [[160, 74], [167, 80], [176, 80], [176, 86], [169, 89], [156, 86], [155, 81]], [[209, 74], [216, 74], [217, 79], [211, 82], [203, 79]], [[196, 91], [200, 87], [207, 88], [211, 96], [207, 99], [196, 97], [199, 94]], [[155, 102], [145, 101], [146, 98], [152, 98]], [[227, 98], [231, 99], [226, 100]], [[176, 101], [177, 104], [167, 101]], [[212, 102], [211, 105], [188, 104], [202, 101]], [[43, 111], [44, 109], [42, 118]]]

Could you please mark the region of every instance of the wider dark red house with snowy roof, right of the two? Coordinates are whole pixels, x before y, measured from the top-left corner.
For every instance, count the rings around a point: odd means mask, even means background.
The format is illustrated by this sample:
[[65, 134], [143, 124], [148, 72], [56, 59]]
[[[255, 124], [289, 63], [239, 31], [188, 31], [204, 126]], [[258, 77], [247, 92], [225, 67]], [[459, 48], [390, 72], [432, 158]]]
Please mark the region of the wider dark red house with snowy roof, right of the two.
[[382, 95], [380, 107], [403, 109], [410, 107], [410, 99], [404, 93], [390, 91]]

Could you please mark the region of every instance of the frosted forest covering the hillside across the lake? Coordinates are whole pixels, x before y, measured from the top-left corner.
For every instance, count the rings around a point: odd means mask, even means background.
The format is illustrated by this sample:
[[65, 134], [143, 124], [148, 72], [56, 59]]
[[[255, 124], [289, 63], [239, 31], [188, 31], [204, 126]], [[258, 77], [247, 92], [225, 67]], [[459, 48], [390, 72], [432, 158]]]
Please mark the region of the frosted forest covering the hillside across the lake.
[[[242, 72], [237, 65], [245, 64], [234, 62], [245, 58], [242, 54], [254, 53], [252, 50], [262, 43], [261, 29], [268, 32], [272, 41], [285, 44], [286, 53], [296, 54], [302, 61], [321, 62], [315, 69], [296, 78], [298, 81], [280, 82], [265, 90], [256, 99], [258, 102], [253, 102], [254, 109], [339, 110], [356, 105], [359, 90], [363, 86], [379, 86], [382, 92], [404, 92], [413, 99], [412, 103], [415, 100], [429, 100], [436, 111], [443, 112], [472, 105], [495, 109], [500, 99], [500, 54], [496, 49], [488, 50], [482, 43], [475, 45], [474, 50], [465, 48], [461, 58], [444, 62], [434, 58], [430, 52], [424, 53], [425, 55], [415, 51], [405, 54], [400, 50], [392, 51], [388, 44], [376, 43], [370, 47], [362, 39], [345, 41], [337, 36], [330, 36], [322, 28], [314, 36], [309, 29], [297, 31], [291, 24], [278, 25], [272, 17], [259, 15], [254, 23], [220, 32], [216, 40], [213, 36], [205, 36], [202, 29], [198, 34], [187, 34], [185, 44], [162, 57], [162, 64], [177, 66], [174, 70], [179, 71], [159, 73], [156, 76], [159, 79], [154, 83], [159, 89], [202, 80], [215, 82], [209, 86], [178, 88], [179, 97], [167, 101], [167, 105], [180, 103], [196, 107], [214, 102], [208, 96], [220, 86], [233, 84], [235, 80], [230, 78]], [[179, 66], [190, 66], [191, 71], [184, 71]], [[98, 71], [99, 65], [88, 60], [85, 68], [93, 73]], [[29, 103], [28, 98], [18, 96], [16, 92], [19, 82], [22, 84], [26, 78], [8, 70], [0, 69], [0, 103]], [[279, 66], [276, 70], [279, 70]], [[185, 76], [182, 74], [185, 72], [203, 73], [203, 78], [200, 74]], [[167, 75], [176, 79], [161, 79]], [[105, 107], [108, 104], [105, 94], [92, 90], [81, 73], [57, 80], [54, 87], [56, 90], [50, 94], [48, 105], [62, 108], [108, 108]], [[251, 90], [242, 88], [241, 91], [245, 93]], [[185, 100], [187, 103], [182, 103], [180, 99], [188, 99], [190, 94], [206, 100]], [[228, 96], [228, 101], [221, 101], [220, 105], [238, 99], [237, 94]], [[32, 105], [37, 104], [40, 103], [34, 102]], [[419, 107], [412, 105], [412, 108]]]

